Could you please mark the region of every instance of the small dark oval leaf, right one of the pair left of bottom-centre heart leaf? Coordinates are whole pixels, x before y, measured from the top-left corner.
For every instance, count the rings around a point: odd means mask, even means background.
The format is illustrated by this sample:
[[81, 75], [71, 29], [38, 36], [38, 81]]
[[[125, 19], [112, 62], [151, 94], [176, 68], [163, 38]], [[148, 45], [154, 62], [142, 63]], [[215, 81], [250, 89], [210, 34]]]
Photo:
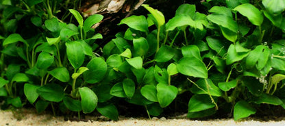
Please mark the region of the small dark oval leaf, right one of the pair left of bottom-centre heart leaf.
[[127, 97], [133, 97], [136, 90], [136, 84], [132, 79], [126, 78], [123, 80], [123, 89]]

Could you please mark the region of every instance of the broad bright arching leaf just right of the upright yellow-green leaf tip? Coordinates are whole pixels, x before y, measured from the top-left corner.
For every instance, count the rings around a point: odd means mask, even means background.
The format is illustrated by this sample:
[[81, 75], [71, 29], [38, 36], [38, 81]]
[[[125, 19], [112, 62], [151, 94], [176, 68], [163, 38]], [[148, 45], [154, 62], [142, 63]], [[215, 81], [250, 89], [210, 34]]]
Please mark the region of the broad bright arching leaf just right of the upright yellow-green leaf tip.
[[187, 15], [178, 15], [171, 18], [171, 20], [169, 20], [169, 22], [166, 23], [165, 27], [166, 31], [173, 31], [175, 28], [183, 26], [191, 26], [196, 28], [195, 21], [190, 16]]

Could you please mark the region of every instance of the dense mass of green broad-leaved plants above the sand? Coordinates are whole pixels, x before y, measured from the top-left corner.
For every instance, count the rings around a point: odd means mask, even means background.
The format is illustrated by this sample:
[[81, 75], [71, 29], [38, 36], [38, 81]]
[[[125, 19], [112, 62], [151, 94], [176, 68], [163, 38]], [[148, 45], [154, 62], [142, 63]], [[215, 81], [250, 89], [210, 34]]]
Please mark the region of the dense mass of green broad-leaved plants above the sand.
[[84, 20], [69, 9], [77, 22], [66, 23], [53, 16], [55, 2], [2, 1], [2, 107], [32, 104], [42, 112], [50, 105], [78, 116], [97, 110], [117, 120], [121, 99], [159, 116], [190, 94], [181, 101], [188, 118], [223, 108], [238, 120], [260, 104], [285, 108], [283, 0], [201, 1], [207, 14], [183, 4], [167, 22], [143, 5], [150, 14], [121, 20], [128, 29], [103, 47], [92, 29], [103, 16]]

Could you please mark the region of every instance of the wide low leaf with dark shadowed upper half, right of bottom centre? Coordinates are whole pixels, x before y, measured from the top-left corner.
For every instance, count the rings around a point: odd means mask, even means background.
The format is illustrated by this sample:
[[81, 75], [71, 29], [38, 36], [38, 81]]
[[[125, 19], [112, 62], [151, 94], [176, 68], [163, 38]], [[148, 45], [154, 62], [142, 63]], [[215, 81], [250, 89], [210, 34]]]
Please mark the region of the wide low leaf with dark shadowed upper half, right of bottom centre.
[[214, 103], [209, 95], [193, 95], [188, 103], [188, 112], [199, 112], [214, 108]]

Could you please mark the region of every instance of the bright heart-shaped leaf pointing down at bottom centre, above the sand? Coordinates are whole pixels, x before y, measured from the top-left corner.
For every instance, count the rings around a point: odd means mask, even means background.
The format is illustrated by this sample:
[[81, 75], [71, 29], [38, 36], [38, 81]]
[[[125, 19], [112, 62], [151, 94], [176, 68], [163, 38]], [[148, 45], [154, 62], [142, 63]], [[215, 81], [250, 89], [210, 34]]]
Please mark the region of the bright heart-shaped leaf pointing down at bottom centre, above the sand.
[[162, 108], [169, 106], [178, 94], [178, 89], [175, 86], [167, 86], [166, 84], [158, 84], [156, 86], [158, 91], [158, 103]]

